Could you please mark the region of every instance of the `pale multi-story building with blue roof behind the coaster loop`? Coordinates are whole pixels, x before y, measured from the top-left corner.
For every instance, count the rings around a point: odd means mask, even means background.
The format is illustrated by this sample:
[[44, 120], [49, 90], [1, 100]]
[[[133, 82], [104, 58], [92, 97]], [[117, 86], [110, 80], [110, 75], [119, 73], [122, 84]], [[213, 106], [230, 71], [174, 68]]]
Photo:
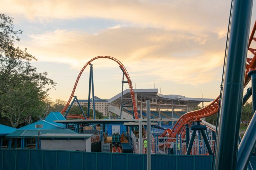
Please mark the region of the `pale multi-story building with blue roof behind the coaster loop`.
[[[81, 106], [87, 106], [88, 100], [78, 100]], [[100, 99], [97, 96], [94, 97], [95, 110], [100, 113], [103, 113], [104, 116], [108, 115], [108, 100]], [[74, 102], [74, 105], [78, 106], [77, 102]], [[90, 109], [93, 109], [92, 99], [90, 99]]]

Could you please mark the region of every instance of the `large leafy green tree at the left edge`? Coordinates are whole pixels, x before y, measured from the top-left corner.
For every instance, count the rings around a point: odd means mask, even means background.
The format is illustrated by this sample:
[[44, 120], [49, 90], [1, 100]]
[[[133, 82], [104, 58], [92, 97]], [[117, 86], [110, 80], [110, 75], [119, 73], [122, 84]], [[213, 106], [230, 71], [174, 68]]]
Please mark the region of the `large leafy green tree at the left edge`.
[[21, 30], [14, 30], [13, 19], [0, 14], [0, 115], [15, 128], [40, 119], [47, 111], [50, 88], [46, 85], [56, 84], [30, 64], [34, 56], [14, 46], [20, 34]]

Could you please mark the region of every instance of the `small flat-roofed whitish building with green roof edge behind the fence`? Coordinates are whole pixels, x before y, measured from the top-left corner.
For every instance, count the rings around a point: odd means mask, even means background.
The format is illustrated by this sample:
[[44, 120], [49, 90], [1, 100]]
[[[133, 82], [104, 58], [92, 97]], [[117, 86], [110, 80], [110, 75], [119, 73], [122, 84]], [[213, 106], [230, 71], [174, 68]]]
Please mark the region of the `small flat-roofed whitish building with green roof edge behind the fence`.
[[91, 136], [80, 133], [46, 133], [40, 135], [41, 149], [91, 152]]

